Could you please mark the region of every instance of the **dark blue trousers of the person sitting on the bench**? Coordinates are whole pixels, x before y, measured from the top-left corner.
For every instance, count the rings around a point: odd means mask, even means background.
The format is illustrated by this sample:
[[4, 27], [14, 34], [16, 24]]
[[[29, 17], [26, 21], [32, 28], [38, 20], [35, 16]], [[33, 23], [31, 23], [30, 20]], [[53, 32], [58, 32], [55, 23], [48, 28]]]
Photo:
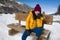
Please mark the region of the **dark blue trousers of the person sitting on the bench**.
[[[43, 28], [35, 28], [33, 30], [30, 30], [31, 32], [36, 33], [36, 36], [39, 37], [42, 34]], [[22, 40], [26, 40], [27, 36], [30, 35], [30, 33], [28, 34], [28, 30], [25, 30], [23, 35], [22, 35]]]

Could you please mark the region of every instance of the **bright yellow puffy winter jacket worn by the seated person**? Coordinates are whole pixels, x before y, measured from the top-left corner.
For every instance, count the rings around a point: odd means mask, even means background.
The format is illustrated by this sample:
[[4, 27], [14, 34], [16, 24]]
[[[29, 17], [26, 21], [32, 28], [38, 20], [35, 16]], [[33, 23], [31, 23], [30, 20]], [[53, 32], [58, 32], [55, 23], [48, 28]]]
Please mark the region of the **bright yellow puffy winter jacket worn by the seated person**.
[[29, 12], [29, 15], [26, 19], [26, 29], [30, 30], [30, 29], [34, 29], [36, 27], [42, 27], [43, 25], [43, 17], [41, 17], [40, 19], [33, 19], [33, 14], [32, 11]]

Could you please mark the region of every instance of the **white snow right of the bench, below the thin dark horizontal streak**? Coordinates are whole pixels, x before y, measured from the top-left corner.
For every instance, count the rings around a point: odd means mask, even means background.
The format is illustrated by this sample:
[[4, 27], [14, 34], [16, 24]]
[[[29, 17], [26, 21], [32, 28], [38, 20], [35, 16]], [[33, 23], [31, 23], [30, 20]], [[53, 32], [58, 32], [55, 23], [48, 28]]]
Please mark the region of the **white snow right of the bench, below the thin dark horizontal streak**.
[[[56, 23], [54, 22], [52, 25], [46, 25], [45, 24], [45, 29], [48, 29], [51, 31], [51, 34], [50, 34], [50, 39], [49, 40], [59, 40], [60, 39], [60, 24], [59, 23]], [[59, 36], [58, 36], [59, 35]]]

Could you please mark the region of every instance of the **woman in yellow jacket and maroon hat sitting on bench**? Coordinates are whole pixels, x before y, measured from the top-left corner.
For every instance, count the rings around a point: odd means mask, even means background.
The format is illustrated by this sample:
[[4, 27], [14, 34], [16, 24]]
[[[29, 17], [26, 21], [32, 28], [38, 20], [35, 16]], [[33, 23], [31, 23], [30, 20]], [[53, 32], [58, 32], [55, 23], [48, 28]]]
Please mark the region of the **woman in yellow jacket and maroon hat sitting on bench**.
[[27, 36], [29, 36], [31, 32], [36, 33], [38, 40], [38, 37], [43, 31], [43, 20], [44, 18], [41, 14], [41, 7], [37, 4], [34, 10], [29, 12], [26, 19], [26, 30], [23, 33], [22, 40], [26, 40]]

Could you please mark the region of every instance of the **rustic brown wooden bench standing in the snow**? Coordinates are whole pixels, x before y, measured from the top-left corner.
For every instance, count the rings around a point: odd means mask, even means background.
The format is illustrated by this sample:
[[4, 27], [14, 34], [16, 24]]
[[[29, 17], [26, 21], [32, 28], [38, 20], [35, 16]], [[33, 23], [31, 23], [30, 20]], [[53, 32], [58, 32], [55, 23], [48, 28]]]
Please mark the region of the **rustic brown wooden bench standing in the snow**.
[[[16, 32], [16, 33], [24, 32], [25, 25], [21, 25], [20, 23], [21, 23], [21, 21], [25, 21], [27, 16], [28, 16], [28, 14], [23, 14], [23, 13], [17, 13], [16, 14], [15, 19], [18, 20], [19, 23], [7, 25], [9, 28], [11, 28], [11, 30], [9, 30], [9, 35], [14, 35], [14, 32]], [[45, 15], [45, 17], [46, 17], [46, 19], [45, 19], [46, 24], [52, 24], [53, 17], [51, 15]], [[50, 17], [50, 18], [47, 18], [47, 17]], [[47, 19], [48, 19], [48, 21], [47, 21]], [[35, 35], [35, 33], [32, 33], [31, 35]], [[48, 40], [49, 35], [50, 35], [50, 31], [44, 30], [42, 35], [40, 36], [40, 38]]]

